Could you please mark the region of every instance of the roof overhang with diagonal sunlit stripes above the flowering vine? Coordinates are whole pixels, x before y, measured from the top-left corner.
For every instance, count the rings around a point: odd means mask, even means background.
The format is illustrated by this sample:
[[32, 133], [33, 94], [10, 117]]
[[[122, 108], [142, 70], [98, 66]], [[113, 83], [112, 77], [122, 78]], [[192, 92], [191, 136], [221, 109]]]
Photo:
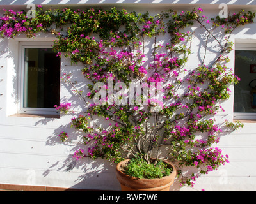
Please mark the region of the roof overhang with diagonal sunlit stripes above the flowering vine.
[[26, 8], [29, 4], [42, 5], [44, 8], [86, 8], [113, 7], [116, 8], [196, 8], [220, 9], [221, 4], [227, 4], [230, 10], [256, 10], [256, 0], [0, 0], [1, 8]]

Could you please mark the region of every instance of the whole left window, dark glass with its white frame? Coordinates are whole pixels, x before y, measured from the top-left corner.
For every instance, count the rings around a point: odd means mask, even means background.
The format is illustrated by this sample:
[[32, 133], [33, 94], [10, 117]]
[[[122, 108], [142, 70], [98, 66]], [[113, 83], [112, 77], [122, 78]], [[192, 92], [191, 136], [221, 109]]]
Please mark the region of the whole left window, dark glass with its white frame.
[[60, 57], [51, 43], [20, 42], [20, 113], [57, 114]]

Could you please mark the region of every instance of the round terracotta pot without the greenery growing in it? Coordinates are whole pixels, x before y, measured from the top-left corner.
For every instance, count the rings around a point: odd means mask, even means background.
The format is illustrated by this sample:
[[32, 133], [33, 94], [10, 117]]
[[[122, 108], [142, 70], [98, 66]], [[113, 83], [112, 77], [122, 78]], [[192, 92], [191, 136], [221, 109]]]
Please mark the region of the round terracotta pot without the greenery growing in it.
[[122, 191], [170, 191], [170, 186], [172, 186], [177, 175], [177, 171], [173, 164], [164, 161], [173, 169], [169, 176], [161, 179], [138, 179], [122, 172], [122, 166], [127, 164], [128, 161], [129, 159], [121, 161], [116, 166], [116, 177], [121, 184]]

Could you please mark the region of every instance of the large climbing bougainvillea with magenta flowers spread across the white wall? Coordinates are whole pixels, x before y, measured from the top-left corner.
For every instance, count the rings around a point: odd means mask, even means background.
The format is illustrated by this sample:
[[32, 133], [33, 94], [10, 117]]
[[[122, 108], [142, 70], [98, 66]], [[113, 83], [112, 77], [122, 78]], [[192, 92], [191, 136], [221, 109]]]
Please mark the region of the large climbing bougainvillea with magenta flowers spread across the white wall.
[[[53, 48], [58, 56], [83, 64], [81, 75], [90, 80], [84, 83], [88, 92], [76, 88], [72, 73], [61, 77], [84, 101], [71, 127], [79, 130], [86, 147], [77, 150], [74, 158], [102, 157], [115, 163], [127, 157], [147, 163], [152, 157], [168, 158], [179, 168], [180, 184], [193, 186], [200, 174], [228, 162], [216, 147], [221, 129], [214, 115], [224, 111], [219, 102], [229, 98], [228, 87], [239, 81], [226, 66], [232, 50], [230, 36], [255, 18], [255, 13], [242, 10], [227, 19], [210, 20], [202, 12], [202, 8], [167, 10], [150, 16], [116, 8], [81, 11], [38, 6], [35, 18], [26, 17], [25, 11], [5, 10], [0, 34], [32, 38], [39, 32], [51, 33], [57, 38]], [[189, 28], [194, 24], [205, 34], [201, 39], [205, 55], [197, 68], [188, 71], [194, 36]], [[218, 54], [205, 64], [210, 41]], [[69, 113], [72, 105], [56, 108]], [[229, 128], [241, 126], [224, 123]], [[59, 136], [62, 141], [68, 138], [65, 132]], [[191, 166], [196, 173], [185, 177], [182, 166]]]

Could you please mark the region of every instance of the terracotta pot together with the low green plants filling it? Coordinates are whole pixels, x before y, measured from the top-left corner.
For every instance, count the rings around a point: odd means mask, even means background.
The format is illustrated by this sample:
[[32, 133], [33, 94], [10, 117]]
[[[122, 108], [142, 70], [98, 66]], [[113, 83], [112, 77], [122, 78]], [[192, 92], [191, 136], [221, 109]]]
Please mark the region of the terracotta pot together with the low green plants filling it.
[[169, 191], [177, 175], [175, 166], [163, 160], [147, 163], [138, 157], [116, 165], [116, 177], [122, 191]]

